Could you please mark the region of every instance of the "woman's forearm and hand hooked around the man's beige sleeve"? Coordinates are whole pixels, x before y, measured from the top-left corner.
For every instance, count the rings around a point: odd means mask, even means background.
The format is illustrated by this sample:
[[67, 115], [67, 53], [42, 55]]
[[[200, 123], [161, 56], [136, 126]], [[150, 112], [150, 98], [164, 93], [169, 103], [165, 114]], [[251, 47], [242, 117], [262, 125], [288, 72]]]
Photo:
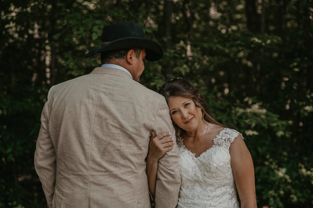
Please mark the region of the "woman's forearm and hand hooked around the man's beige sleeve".
[[156, 134], [152, 131], [151, 134], [149, 152], [146, 159], [146, 174], [148, 176], [149, 191], [151, 193], [152, 200], [154, 200], [158, 160], [165, 154], [165, 152], [170, 151], [173, 148], [172, 146], [174, 143], [172, 138], [164, 138], [170, 136], [171, 133], [160, 133], [156, 136]]

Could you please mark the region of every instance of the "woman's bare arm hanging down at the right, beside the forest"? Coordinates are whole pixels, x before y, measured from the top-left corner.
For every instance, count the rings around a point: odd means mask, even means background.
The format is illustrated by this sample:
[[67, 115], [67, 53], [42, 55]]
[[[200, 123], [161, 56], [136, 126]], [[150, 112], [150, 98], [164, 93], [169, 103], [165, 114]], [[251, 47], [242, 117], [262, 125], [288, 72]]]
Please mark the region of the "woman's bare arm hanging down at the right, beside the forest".
[[241, 136], [231, 143], [229, 153], [241, 208], [257, 208], [252, 157]]

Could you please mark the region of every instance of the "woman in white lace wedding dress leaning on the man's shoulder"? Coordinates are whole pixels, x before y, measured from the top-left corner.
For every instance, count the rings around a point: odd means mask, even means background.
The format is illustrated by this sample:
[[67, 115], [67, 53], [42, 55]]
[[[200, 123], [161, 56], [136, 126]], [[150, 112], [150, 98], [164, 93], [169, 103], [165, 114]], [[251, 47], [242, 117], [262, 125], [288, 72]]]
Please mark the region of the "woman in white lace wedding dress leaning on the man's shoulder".
[[[182, 78], [165, 83], [162, 94], [170, 111], [179, 148], [181, 187], [177, 207], [257, 207], [254, 167], [242, 135], [208, 114], [198, 90]], [[152, 132], [147, 157], [149, 191], [155, 193], [157, 161], [172, 149], [168, 133]]]

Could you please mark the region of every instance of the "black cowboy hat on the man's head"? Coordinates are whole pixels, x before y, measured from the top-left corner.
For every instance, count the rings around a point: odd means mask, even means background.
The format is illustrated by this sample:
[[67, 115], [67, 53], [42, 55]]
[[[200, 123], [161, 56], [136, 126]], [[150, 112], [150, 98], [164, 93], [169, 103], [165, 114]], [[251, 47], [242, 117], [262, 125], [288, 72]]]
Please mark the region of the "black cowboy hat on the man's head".
[[142, 26], [136, 22], [119, 22], [104, 26], [101, 46], [89, 51], [85, 57], [103, 51], [136, 48], [146, 49], [145, 59], [148, 61], [157, 61], [163, 57], [162, 47], [155, 41], [146, 39]]

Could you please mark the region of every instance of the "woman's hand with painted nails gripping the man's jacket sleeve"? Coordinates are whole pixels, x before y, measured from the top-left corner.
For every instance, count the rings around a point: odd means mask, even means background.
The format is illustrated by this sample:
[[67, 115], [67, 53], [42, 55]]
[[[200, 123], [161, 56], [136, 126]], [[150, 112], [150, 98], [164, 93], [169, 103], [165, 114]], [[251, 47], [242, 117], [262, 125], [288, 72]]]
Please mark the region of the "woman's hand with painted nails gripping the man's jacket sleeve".
[[165, 152], [173, 149], [174, 142], [172, 138], [166, 138], [171, 136], [171, 133], [160, 133], [156, 136], [154, 131], [151, 131], [151, 138], [149, 143], [148, 159], [152, 162], [157, 162]]

